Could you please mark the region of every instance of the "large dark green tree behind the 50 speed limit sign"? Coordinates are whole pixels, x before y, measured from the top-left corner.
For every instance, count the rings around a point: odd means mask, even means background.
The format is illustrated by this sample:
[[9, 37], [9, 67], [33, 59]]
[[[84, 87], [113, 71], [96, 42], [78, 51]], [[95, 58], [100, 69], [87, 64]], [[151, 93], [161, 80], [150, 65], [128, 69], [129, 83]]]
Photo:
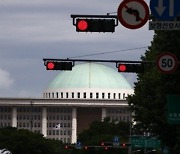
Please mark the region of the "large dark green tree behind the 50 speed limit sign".
[[163, 74], [156, 67], [156, 59], [163, 52], [171, 52], [180, 58], [180, 31], [156, 31], [151, 46], [142, 56], [142, 61], [154, 63], [145, 65], [145, 72], [138, 74], [134, 95], [129, 96], [130, 108], [135, 113], [136, 134], [150, 132], [178, 154], [180, 126], [167, 123], [167, 95], [180, 95], [180, 69]]

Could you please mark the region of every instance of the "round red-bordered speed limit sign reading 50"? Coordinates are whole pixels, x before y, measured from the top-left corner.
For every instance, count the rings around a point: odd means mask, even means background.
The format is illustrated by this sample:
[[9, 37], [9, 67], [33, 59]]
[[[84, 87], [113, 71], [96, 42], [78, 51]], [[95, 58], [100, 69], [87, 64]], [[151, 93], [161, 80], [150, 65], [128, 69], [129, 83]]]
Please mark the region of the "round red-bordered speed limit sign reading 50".
[[157, 67], [163, 73], [172, 73], [178, 66], [178, 59], [172, 53], [165, 52], [157, 58]]

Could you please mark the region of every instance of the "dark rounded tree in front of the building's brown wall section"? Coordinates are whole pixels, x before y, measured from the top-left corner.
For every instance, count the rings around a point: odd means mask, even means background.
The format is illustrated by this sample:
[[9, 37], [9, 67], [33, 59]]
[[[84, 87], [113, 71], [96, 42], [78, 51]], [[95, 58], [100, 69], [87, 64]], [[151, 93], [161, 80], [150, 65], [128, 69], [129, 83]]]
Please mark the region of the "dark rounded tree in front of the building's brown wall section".
[[121, 142], [127, 142], [129, 123], [110, 122], [109, 118], [105, 118], [104, 122], [94, 121], [90, 124], [89, 129], [78, 135], [78, 138], [86, 145], [100, 145], [101, 142], [113, 142], [114, 136], [118, 136]]

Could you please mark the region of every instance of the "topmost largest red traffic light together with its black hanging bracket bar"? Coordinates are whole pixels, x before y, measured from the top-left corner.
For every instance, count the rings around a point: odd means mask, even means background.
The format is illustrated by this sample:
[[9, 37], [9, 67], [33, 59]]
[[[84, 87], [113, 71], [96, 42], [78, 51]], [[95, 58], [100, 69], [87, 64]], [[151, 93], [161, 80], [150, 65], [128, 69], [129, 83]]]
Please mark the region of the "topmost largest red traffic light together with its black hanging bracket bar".
[[114, 15], [71, 15], [77, 32], [114, 32], [118, 18]]

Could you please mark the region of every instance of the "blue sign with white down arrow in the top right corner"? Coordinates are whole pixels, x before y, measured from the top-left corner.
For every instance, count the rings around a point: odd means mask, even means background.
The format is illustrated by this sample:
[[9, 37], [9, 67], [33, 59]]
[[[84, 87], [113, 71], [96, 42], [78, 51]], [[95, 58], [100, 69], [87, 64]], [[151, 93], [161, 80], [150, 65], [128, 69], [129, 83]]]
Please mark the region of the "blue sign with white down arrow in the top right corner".
[[159, 20], [173, 20], [180, 13], [180, 0], [151, 0], [151, 13]]

